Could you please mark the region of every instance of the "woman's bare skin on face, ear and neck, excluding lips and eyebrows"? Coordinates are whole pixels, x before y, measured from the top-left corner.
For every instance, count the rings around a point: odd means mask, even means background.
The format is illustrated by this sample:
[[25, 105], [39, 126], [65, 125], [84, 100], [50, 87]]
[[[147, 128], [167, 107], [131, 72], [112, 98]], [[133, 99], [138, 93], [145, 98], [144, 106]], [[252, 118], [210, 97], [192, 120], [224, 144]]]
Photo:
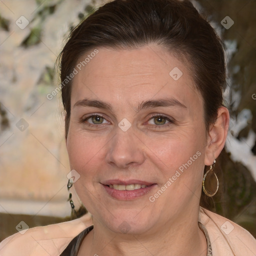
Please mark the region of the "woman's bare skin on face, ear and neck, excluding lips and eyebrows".
[[[94, 225], [78, 255], [206, 255], [205, 236], [197, 222], [203, 168], [224, 146], [228, 110], [220, 107], [206, 132], [203, 99], [187, 65], [158, 45], [98, 50], [73, 78], [66, 140], [70, 168], [80, 174], [74, 187]], [[176, 81], [169, 75], [173, 67], [183, 73]], [[84, 98], [107, 102], [112, 110], [74, 106]], [[136, 110], [142, 101], [162, 98], [174, 98], [185, 107]], [[99, 122], [85, 118], [95, 113], [103, 115]], [[157, 122], [150, 114], [173, 121]], [[126, 131], [118, 126], [123, 118], [131, 123]], [[151, 202], [149, 196], [198, 151], [200, 156]], [[156, 185], [141, 197], [119, 200], [100, 183], [115, 178]]]

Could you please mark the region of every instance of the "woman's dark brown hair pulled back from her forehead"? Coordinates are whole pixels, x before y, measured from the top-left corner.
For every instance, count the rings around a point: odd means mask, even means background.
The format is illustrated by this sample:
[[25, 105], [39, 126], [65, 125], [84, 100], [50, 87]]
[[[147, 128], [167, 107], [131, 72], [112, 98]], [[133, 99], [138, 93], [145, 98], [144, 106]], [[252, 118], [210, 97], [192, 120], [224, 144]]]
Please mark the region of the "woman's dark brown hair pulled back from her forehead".
[[[113, 0], [73, 28], [59, 55], [64, 81], [78, 58], [98, 47], [136, 48], [149, 43], [182, 57], [204, 100], [208, 130], [222, 105], [226, 83], [223, 42], [188, 0]], [[72, 80], [61, 86], [65, 110], [65, 136], [70, 119]]]

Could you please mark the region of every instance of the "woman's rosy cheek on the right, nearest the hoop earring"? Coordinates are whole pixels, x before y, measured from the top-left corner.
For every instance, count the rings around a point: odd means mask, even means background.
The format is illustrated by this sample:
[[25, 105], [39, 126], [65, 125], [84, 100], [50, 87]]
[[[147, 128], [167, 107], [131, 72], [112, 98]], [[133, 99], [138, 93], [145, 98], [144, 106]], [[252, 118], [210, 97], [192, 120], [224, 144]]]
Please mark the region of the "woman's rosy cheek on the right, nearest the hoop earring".
[[[199, 128], [199, 127], [198, 127]], [[177, 194], [188, 188], [195, 191], [201, 184], [203, 170], [203, 141], [198, 129], [186, 129], [165, 139], [151, 141], [151, 161], [161, 171], [164, 185], [171, 178], [171, 189]], [[189, 190], [188, 189], [188, 190]]]

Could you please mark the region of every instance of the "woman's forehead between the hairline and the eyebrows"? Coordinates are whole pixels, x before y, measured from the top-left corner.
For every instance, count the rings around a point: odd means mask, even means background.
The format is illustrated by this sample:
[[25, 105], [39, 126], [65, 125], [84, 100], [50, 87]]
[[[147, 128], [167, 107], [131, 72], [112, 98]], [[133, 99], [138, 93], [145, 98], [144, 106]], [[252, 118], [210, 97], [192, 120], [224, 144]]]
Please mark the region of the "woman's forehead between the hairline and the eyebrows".
[[120, 98], [122, 102], [138, 102], [168, 95], [183, 102], [188, 98], [200, 100], [187, 65], [160, 46], [97, 50], [96, 54], [86, 52], [77, 61], [71, 105], [83, 97], [113, 104], [120, 103]]

